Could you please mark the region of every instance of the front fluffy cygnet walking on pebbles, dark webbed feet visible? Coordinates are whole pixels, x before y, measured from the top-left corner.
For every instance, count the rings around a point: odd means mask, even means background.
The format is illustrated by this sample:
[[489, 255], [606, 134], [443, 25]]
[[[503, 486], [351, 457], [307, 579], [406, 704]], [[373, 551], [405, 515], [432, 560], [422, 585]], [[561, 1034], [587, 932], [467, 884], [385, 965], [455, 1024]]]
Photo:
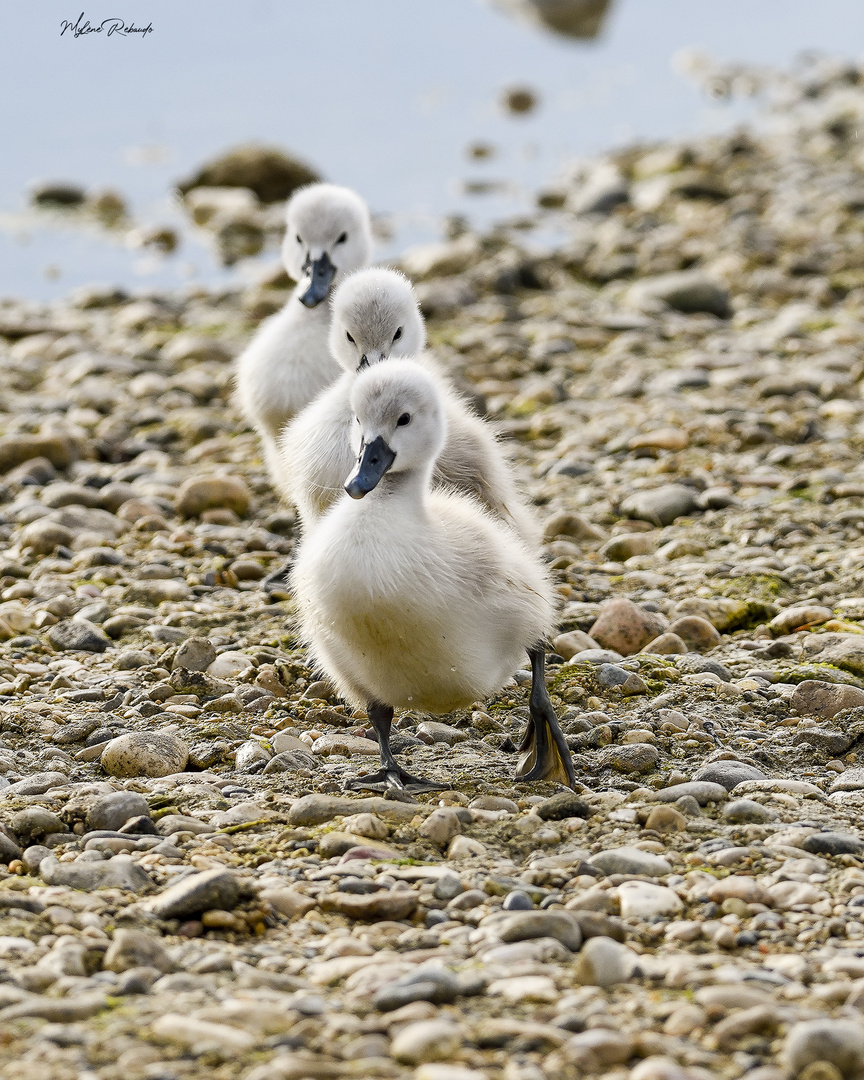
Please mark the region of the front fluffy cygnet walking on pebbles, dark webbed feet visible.
[[314, 662], [366, 707], [378, 734], [381, 771], [356, 786], [440, 786], [395, 762], [393, 710], [447, 713], [491, 697], [526, 651], [531, 718], [518, 771], [572, 786], [543, 675], [552, 583], [512, 528], [474, 498], [433, 488], [447, 437], [440, 381], [413, 361], [391, 361], [363, 372], [350, 401], [357, 422], [348, 495], [306, 534], [293, 586]]

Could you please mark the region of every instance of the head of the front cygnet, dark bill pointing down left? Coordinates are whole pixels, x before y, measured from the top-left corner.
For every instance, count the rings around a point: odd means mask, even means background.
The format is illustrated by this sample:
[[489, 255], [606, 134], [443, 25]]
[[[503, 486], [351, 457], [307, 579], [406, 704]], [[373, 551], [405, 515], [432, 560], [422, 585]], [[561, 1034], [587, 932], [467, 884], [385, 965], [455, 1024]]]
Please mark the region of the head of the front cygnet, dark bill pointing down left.
[[351, 391], [357, 463], [346, 481], [362, 499], [386, 473], [431, 471], [444, 447], [447, 420], [434, 378], [411, 360], [377, 364], [357, 376]]

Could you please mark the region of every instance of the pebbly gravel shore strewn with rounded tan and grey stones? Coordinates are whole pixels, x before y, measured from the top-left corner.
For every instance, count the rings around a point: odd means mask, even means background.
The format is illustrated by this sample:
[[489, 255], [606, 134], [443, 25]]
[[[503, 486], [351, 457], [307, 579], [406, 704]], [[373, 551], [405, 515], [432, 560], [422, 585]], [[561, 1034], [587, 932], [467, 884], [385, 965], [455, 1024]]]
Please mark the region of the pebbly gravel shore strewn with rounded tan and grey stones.
[[0, 1077], [864, 1075], [863, 84], [404, 258], [545, 522], [577, 792], [517, 673], [399, 720], [450, 792], [341, 794], [230, 402], [278, 274], [0, 305]]

